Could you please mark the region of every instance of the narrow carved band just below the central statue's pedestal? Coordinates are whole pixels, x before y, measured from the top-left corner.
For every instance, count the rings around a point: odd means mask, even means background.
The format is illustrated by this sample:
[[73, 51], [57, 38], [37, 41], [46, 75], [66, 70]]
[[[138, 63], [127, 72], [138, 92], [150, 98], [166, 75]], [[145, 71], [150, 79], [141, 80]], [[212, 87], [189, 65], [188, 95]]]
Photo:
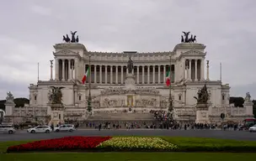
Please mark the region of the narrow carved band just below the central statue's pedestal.
[[101, 91], [101, 95], [124, 95], [124, 94], [150, 94], [158, 95], [159, 91], [153, 89], [137, 89], [137, 90], [125, 90], [125, 89], [106, 89]]

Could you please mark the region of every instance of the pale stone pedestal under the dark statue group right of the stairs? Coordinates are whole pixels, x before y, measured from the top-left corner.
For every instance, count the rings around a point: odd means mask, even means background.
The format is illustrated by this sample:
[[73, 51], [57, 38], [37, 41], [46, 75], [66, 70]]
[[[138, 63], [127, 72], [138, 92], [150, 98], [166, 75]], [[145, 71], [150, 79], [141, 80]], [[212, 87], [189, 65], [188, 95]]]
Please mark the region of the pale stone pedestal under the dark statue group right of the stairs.
[[196, 119], [195, 123], [210, 123], [208, 104], [196, 105]]

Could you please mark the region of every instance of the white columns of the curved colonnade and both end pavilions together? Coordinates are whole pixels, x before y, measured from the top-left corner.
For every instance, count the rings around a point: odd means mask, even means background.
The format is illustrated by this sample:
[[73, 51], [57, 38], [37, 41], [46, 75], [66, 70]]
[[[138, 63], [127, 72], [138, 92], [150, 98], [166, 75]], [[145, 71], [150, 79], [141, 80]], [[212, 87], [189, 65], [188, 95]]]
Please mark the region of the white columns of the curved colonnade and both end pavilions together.
[[[171, 81], [175, 80], [175, 72], [182, 69], [172, 65]], [[204, 81], [204, 60], [187, 59], [184, 61], [184, 80]], [[77, 78], [78, 64], [73, 59], [56, 59], [56, 81], [70, 81]], [[80, 68], [79, 68], [80, 69]], [[84, 71], [88, 69], [85, 65]], [[136, 84], [164, 84], [169, 65], [135, 65], [132, 73], [136, 76]], [[91, 83], [94, 84], [124, 84], [128, 73], [126, 65], [91, 65]], [[89, 80], [87, 80], [88, 82]]]

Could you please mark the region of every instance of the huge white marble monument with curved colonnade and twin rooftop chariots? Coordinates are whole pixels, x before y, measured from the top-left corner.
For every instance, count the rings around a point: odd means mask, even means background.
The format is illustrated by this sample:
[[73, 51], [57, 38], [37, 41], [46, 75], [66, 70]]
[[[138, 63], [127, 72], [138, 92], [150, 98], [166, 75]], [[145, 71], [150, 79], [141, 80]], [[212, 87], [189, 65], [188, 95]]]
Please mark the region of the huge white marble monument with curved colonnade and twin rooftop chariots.
[[[250, 101], [243, 108], [229, 105], [230, 86], [209, 78], [209, 61], [205, 60], [206, 46], [196, 43], [193, 35], [189, 38], [189, 32], [184, 32], [181, 43], [175, 45], [172, 51], [153, 53], [88, 51], [84, 44], [78, 43], [76, 33], [72, 32], [72, 39], [68, 35], [63, 36], [65, 42], [54, 45], [55, 68], [53, 71], [51, 61], [49, 80], [29, 86], [30, 102], [26, 108], [33, 111], [31, 113], [34, 117], [38, 115], [41, 121], [54, 115], [51, 86], [64, 87], [61, 89], [63, 108], [61, 111], [58, 108], [58, 114], [62, 112], [60, 119], [63, 121], [151, 119], [150, 111], [168, 110], [169, 87], [165, 81], [169, 70], [173, 116], [178, 122], [195, 122], [200, 108], [194, 97], [198, 96], [197, 92], [203, 86], [207, 86], [209, 93], [206, 102], [209, 122], [221, 122], [221, 113], [227, 114], [230, 117], [226, 118], [235, 122], [253, 117], [248, 107], [251, 106]], [[89, 57], [90, 76], [83, 85]], [[89, 83], [93, 108], [90, 117], [87, 112]], [[9, 110], [7, 107], [6, 115], [18, 118], [17, 112], [18, 109]], [[205, 114], [201, 112], [200, 115], [204, 117]]]

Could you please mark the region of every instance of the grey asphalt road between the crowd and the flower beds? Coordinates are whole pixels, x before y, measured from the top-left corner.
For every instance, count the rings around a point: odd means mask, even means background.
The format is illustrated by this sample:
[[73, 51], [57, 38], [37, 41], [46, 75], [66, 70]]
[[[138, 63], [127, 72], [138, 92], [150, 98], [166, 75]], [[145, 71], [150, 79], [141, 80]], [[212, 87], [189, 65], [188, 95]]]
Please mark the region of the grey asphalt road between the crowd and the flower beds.
[[173, 137], [195, 137], [195, 138], [225, 138], [235, 140], [256, 141], [256, 132], [245, 131], [221, 131], [221, 130], [97, 130], [97, 129], [78, 129], [75, 132], [51, 132], [51, 133], [27, 133], [18, 131], [15, 134], [0, 133], [0, 142], [62, 138], [67, 136], [173, 136]]

